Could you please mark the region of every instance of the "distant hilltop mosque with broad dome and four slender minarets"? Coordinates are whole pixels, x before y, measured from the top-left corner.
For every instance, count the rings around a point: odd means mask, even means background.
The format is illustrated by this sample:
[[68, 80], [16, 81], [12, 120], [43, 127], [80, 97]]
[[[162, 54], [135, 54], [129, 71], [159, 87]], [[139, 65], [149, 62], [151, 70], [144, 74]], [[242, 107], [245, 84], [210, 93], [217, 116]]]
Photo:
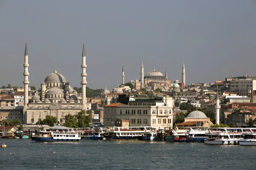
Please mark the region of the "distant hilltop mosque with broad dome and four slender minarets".
[[[182, 66], [182, 83], [185, 85], [185, 65], [183, 62]], [[125, 74], [124, 74], [124, 68], [122, 68], [122, 84], [125, 83]], [[162, 89], [163, 91], [170, 90], [175, 82], [172, 82], [172, 80], [169, 80], [167, 77], [167, 70], [165, 68], [165, 76], [159, 71], [156, 71], [155, 68], [152, 71], [149, 71], [144, 76], [144, 67], [143, 62], [141, 62], [141, 71], [140, 71], [140, 80], [130, 80], [130, 82], [134, 85], [135, 90], [139, 90], [142, 88], [146, 88], [148, 90], [155, 90], [157, 88]]]

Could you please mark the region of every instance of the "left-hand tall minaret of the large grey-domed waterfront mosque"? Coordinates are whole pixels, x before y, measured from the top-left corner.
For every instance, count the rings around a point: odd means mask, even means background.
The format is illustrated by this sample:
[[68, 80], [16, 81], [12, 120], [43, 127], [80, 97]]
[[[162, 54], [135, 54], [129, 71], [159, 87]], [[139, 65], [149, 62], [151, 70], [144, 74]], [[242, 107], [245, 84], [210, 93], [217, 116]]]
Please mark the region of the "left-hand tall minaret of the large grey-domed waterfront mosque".
[[25, 45], [25, 54], [24, 54], [24, 108], [23, 108], [23, 112], [26, 112], [28, 103], [29, 103], [29, 64], [28, 64], [28, 49], [27, 49], [27, 45]]

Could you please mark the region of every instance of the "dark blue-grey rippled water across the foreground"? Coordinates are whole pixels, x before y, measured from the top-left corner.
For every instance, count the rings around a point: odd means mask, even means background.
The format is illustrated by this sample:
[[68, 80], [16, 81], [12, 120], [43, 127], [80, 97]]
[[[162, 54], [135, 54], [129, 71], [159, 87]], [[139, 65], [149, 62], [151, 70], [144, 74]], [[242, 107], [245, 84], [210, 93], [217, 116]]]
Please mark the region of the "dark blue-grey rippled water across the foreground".
[[0, 170], [255, 169], [256, 147], [149, 141], [0, 139]]

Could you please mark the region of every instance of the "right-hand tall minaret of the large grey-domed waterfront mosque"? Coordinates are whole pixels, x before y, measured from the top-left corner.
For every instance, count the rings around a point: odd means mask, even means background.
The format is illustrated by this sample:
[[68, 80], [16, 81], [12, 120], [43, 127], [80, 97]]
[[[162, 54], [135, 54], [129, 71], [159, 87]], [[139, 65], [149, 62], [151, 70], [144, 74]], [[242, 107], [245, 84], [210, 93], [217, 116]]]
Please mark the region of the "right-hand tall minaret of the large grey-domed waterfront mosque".
[[85, 64], [85, 48], [83, 46], [83, 53], [82, 53], [82, 73], [81, 73], [81, 77], [82, 77], [82, 81], [81, 81], [81, 85], [82, 85], [82, 109], [86, 111], [86, 64]]

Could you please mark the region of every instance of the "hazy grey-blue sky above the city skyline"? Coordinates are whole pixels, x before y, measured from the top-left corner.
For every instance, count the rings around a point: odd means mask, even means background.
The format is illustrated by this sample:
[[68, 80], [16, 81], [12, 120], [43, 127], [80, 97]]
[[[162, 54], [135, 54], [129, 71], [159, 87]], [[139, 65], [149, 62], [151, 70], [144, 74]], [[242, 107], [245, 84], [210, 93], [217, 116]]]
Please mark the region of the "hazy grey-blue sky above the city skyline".
[[0, 86], [37, 88], [57, 65], [81, 87], [85, 41], [87, 86], [116, 88], [157, 71], [186, 84], [230, 75], [256, 76], [255, 0], [0, 0]]

